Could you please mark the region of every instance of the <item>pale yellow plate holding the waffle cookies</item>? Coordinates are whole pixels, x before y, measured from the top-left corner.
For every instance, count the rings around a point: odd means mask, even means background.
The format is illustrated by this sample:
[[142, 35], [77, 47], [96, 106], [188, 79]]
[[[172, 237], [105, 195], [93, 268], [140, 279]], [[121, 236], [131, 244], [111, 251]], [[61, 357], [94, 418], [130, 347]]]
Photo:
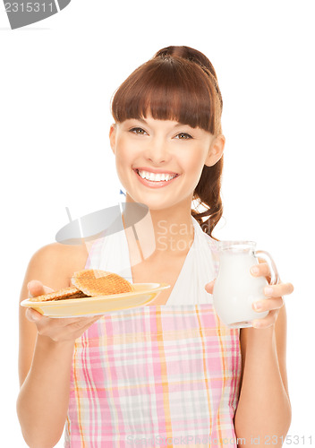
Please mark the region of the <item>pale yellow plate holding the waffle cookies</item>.
[[134, 291], [110, 296], [68, 298], [34, 302], [23, 300], [21, 306], [29, 306], [40, 314], [49, 317], [76, 317], [97, 315], [149, 304], [163, 289], [170, 288], [167, 283], [133, 283]]

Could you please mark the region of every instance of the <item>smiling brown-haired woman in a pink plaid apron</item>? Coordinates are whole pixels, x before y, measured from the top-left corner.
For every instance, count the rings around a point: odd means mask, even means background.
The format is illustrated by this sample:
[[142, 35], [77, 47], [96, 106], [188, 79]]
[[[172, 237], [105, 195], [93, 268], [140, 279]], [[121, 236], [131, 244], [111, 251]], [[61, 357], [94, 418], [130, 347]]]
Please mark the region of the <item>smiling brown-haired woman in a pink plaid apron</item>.
[[[52, 292], [44, 285], [66, 288], [82, 268], [123, 270], [134, 285], [170, 288], [149, 306], [97, 318], [54, 321], [21, 311], [18, 414], [25, 440], [53, 446], [65, 422], [64, 446], [74, 448], [125, 446], [143, 436], [151, 447], [164, 439], [236, 448], [240, 438], [249, 445], [253, 436], [285, 435], [291, 411], [281, 296], [292, 285], [268, 287], [261, 311], [270, 313], [260, 330], [226, 326], [211, 297], [226, 142], [213, 66], [193, 48], [163, 48], [123, 82], [112, 110], [110, 145], [126, 190], [122, 231], [98, 238], [89, 254], [42, 248], [21, 297]], [[194, 199], [207, 210], [193, 210]], [[149, 209], [149, 220], [137, 221], [136, 240], [126, 226], [129, 202]], [[139, 242], [149, 253], [141, 260]], [[268, 278], [268, 265], [255, 267], [253, 275]]]

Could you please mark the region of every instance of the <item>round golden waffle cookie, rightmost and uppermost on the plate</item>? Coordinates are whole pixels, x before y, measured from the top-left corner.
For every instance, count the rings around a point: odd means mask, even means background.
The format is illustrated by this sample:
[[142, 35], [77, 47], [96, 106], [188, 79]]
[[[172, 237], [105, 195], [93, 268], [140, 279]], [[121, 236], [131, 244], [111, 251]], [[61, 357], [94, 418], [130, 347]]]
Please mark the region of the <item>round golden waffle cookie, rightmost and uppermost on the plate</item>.
[[132, 284], [118, 274], [98, 269], [74, 272], [72, 285], [90, 297], [132, 292]]

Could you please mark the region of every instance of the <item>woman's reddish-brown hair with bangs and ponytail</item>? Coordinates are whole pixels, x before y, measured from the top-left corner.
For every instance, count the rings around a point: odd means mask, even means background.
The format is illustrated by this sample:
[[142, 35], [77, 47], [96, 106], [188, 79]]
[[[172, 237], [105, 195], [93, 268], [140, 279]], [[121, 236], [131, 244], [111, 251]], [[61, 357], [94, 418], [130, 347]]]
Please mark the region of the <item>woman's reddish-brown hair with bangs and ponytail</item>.
[[[200, 127], [217, 136], [222, 133], [222, 97], [217, 74], [208, 57], [191, 47], [166, 47], [140, 65], [115, 91], [112, 115], [115, 122], [146, 118], [176, 120]], [[202, 230], [212, 231], [222, 216], [220, 197], [223, 157], [212, 167], [203, 167], [193, 200], [208, 209], [192, 210]], [[202, 220], [209, 217], [208, 220]]]

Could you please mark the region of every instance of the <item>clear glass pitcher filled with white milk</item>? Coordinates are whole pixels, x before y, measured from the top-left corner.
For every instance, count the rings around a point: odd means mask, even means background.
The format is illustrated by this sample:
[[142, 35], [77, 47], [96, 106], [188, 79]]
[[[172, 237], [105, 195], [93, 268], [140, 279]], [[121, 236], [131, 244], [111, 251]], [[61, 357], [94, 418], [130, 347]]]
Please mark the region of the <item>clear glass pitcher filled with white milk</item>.
[[255, 251], [253, 241], [221, 241], [219, 271], [213, 289], [213, 305], [220, 320], [230, 328], [251, 327], [254, 319], [262, 319], [268, 311], [257, 313], [252, 303], [268, 300], [263, 289], [268, 286], [265, 277], [253, 277], [251, 266], [263, 258], [269, 266], [271, 285], [278, 282], [276, 264], [268, 252]]

